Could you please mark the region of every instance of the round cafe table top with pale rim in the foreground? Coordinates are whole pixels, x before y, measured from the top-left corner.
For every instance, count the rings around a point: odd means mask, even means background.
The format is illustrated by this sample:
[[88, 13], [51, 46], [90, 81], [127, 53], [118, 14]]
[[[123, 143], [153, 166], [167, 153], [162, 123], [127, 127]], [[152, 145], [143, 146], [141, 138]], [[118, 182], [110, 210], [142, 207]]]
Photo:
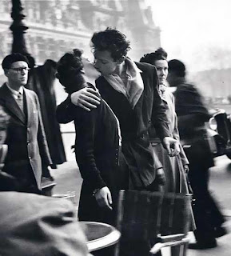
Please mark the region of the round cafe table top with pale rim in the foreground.
[[78, 222], [86, 234], [89, 251], [100, 250], [118, 242], [121, 234], [109, 224], [102, 222]]

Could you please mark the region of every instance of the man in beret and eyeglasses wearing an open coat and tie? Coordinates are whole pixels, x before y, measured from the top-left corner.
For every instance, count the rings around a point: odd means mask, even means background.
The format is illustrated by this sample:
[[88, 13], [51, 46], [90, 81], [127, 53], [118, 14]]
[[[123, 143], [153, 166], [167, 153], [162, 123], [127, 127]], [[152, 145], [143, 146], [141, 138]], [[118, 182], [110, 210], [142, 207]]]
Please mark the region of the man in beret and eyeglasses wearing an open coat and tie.
[[42, 167], [52, 162], [38, 96], [24, 87], [30, 70], [28, 63], [22, 54], [7, 55], [2, 61], [7, 82], [0, 88], [0, 105], [10, 115], [8, 153], [2, 171], [17, 179], [20, 191], [40, 194]]

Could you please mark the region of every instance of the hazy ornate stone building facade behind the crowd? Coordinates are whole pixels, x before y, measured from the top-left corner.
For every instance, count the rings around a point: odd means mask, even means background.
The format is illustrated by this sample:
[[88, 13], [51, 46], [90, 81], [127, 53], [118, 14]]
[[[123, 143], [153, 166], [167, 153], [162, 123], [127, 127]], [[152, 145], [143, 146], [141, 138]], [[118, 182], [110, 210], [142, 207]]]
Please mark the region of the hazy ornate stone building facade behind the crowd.
[[[131, 42], [129, 56], [138, 60], [160, 46], [160, 29], [154, 25], [144, 0], [21, 0], [29, 27], [25, 39], [28, 52], [37, 64], [55, 61], [66, 51], [81, 48], [90, 56], [94, 31], [116, 27]], [[10, 53], [12, 34], [11, 1], [0, 5], [0, 60]]]

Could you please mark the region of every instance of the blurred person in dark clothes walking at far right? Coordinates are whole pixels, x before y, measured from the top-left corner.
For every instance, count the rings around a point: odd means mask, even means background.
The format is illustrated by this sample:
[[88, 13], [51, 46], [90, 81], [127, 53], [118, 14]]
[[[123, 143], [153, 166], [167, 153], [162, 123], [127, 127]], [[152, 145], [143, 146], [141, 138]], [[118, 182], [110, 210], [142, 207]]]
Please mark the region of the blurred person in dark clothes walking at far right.
[[189, 159], [189, 181], [193, 189], [195, 205], [193, 214], [197, 230], [197, 242], [190, 244], [192, 249], [206, 249], [217, 246], [216, 238], [224, 235], [225, 222], [218, 206], [209, 192], [209, 167], [214, 166], [213, 155], [209, 150], [205, 122], [209, 112], [197, 88], [185, 80], [185, 65], [173, 59], [169, 61], [169, 86], [175, 87], [175, 106], [179, 134], [185, 154]]

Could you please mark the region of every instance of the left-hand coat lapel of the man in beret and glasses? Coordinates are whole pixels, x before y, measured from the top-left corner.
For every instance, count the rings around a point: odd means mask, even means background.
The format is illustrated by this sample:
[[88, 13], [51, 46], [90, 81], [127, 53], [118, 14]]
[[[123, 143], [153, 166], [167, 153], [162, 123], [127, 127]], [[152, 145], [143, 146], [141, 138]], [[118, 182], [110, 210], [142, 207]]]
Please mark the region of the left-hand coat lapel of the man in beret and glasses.
[[8, 109], [11, 114], [13, 114], [16, 118], [18, 118], [22, 123], [25, 124], [26, 116], [18, 106], [6, 84], [2, 85], [1, 90], [1, 101], [5, 102], [6, 109]]

